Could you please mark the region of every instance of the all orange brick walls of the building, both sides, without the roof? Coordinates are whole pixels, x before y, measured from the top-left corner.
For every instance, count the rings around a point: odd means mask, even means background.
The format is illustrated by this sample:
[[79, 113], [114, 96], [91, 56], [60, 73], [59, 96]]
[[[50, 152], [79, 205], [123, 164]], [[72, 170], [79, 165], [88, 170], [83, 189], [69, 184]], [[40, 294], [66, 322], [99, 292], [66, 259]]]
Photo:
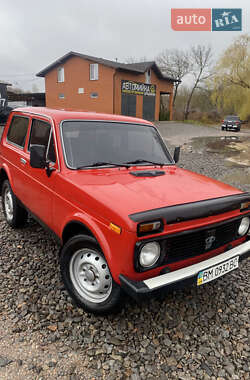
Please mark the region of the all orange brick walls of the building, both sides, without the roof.
[[[104, 113], [121, 114], [121, 80], [145, 83], [145, 74], [133, 74], [115, 71], [113, 68], [99, 64], [99, 79], [89, 80], [89, 65], [92, 61], [72, 57], [62, 64], [64, 82], [57, 82], [57, 68], [45, 76], [46, 106], [59, 109], [73, 109]], [[169, 92], [170, 120], [172, 119], [173, 84], [159, 79], [151, 70], [151, 83], [156, 85], [155, 120], [159, 120], [160, 92]], [[78, 94], [78, 88], [84, 88], [84, 94]], [[98, 93], [97, 99], [90, 94]], [[64, 99], [59, 99], [64, 94]], [[143, 96], [137, 95], [136, 116], [142, 118]]]

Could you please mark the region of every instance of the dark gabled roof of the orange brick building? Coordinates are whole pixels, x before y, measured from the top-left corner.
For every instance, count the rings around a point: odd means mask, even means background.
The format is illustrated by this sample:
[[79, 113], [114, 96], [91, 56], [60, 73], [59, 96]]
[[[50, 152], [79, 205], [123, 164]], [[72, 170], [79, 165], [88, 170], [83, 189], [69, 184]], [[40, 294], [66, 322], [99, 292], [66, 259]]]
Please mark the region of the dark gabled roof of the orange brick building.
[[38, 77], [44, 77], [50, 70], [53, 70], [55, 67], [63, 64], [69, 58], [72, 58], [72, 57], [80, 57], [80, 58], [86, 59], [88, 61], [92, 61], [92, 62], [100, 63], [100, 64], [108, 66], [108, 67], [112, 67], [116, 70], [134, 72], [137, 74], [143, 74], [143, 73], [145, 73], [145, 71], [152, 68], [156, 72], [157, 76], [160, 79], [165, 79], [165, 80], [168, 80], [171, 82], [177, 82], [178, 81], [177, 79], [165, 76], [161, 72], [161, 70], [159, 69], [159, 67], [155, 63], [155, 61], [137, 62], [137, 63], [121, 63], [121, 62], [116, 62], [116, 61], [110, 61], [110, 60], [104, 59], [104, 58], [92, 57], [90, 55], [81, 54], [81, 53], [77, 53], [74, 51], [70, 51], [69, 53], [63, 55], [61, 58], [58, 58], [56, 61], [51, 63], [49, 66], [45, 67], [45, 69], [39, 71], [39, 73], [37, 73], [36, 75]]

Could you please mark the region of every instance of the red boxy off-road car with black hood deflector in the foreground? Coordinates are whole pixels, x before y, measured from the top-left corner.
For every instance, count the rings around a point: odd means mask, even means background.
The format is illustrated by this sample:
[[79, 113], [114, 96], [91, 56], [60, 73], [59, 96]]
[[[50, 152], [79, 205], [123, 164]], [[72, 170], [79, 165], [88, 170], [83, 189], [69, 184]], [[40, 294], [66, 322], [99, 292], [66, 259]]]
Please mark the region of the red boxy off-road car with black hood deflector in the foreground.
[[206, 284], [249, 256], [250, 194], [178, 157], [146, 120], [18, 108], [0, 142], [5, 219], [17, 228], [30, 213], [54, 233], [64, 285], [88, 312], [117, 310], [123, 291]]

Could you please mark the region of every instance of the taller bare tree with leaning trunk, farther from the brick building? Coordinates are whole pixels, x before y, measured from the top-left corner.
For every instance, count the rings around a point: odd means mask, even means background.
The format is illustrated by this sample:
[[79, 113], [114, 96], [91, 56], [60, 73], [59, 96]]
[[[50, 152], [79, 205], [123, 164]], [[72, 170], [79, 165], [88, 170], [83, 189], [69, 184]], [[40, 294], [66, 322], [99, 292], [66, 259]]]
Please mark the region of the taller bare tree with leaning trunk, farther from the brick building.
[[199, 84], [204, 82], [212, 75], [209, 70], [212, 58], [212, 49], [210, 46], [192, 46], [189, 57], [192, 67], [191, 74], [194, 77], [194, 84], [187, 98], [187, 103], [184, 112], [184, 120], [188, 118], [190, 104], [195, 90], [199, 87]]

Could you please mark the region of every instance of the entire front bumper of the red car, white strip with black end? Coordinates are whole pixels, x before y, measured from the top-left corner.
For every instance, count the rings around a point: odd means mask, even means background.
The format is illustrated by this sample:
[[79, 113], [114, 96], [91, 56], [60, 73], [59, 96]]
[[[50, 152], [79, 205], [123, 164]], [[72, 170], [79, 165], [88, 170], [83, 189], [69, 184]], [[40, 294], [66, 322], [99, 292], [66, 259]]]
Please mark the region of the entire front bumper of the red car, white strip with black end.
[[201, 261], [200, 263], [188, 267], [162, 274], [157, 277], [149, 278], [144, 281], [133, 281], [128, 277], [120, 274], [121, 287], [126, 293], [137, 301], [146, 298], [148, 295], [159, 291], [168, 291], [176, 288], [183, 288], [193, 283], [197, 283], [198, 273], [212, 266], [218, 265], [239, 256], [242, 261], [250, 255], [250, 240], [232, 248], [211, 259]]

